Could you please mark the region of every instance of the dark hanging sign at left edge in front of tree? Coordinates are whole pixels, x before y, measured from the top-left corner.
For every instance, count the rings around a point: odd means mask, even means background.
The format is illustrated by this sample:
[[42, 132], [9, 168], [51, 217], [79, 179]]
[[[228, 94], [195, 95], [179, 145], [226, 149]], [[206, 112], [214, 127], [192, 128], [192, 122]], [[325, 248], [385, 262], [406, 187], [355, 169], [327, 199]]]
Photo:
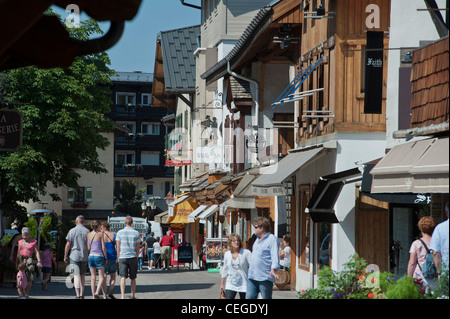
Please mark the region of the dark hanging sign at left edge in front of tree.
[[22, 114], [0, 110], [0, 151], [15, 151], [22, 146]]

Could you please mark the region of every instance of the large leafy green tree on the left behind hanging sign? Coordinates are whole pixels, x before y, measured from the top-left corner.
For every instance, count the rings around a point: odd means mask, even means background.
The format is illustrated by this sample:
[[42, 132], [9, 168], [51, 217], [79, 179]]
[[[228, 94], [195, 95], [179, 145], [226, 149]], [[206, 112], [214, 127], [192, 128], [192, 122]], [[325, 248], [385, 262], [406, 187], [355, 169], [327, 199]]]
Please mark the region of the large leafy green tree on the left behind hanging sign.
[[[49, 12], [48, 14], [53, 14]], [[86, 40], [102, 34], [93, 20], [70, 35]], [[110, 112], [110, 76], [115, 72], [106, 53], [77, 57], [68, 68], [39, 69], [35, 66], [0, 74], [0, 104], [23, 115], [22, 147], [0, 153], [0, 182], [3, 204], [37, 201], [47, 193], [47, 184], [77, 187], [74, 168], [93, 173], [106, 169], [98, 149], [108, 140], [102, 135], [113, 129], [105, 117]], [[60, 200], [57, 194], [50, 194]]]

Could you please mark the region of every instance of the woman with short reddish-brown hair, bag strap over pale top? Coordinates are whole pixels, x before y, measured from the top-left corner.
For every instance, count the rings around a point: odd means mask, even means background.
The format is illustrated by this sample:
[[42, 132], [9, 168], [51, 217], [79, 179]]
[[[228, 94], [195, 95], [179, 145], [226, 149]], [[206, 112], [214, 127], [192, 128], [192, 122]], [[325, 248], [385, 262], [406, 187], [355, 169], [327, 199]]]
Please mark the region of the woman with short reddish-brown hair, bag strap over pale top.
[[426, 287], [428, 282], [422, 275], [422, 266], [427, 257], [427, 248], [430, 246], [431, 234], [436, 227], [436, 222], [433, 217], [425, 216], [419, 220], [418, 227], [422, 236], [413, 241], [409, 249], [407, 274], [410, 277], [421, 279], [422, 284]]

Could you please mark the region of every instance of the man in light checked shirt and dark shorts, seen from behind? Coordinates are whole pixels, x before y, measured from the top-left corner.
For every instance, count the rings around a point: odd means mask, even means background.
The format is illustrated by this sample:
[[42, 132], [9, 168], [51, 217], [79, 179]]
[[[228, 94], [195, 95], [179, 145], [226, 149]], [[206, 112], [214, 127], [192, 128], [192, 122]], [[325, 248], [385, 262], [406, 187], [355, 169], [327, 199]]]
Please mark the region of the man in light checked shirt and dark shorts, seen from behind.
[[137, 277], [137, 256], [139, 253], [139, 243], [141, 236], [133, 228], [133, 218], [125, 217], [125, 227], [117, 232], [117, 256], [119, 262], [120, 275], [120, 293], [121, 298], [125, 299], [126, 279], [131, 279], [131, 298], [136, 295], [136, 277]]

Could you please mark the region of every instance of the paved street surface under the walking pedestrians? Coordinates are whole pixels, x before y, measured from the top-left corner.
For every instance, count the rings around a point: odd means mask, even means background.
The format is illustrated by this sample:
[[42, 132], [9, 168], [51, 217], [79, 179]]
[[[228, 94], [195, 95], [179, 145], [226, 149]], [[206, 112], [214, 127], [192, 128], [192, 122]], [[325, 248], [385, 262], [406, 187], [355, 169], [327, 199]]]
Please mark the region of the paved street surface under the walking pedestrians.
[[[136, 280], [136, 299], [218, 299], [220, 273], [206, 270], [147, 270], [138, 272]], [[97, 279], [98, 280], [98, 279]], [[109, 277], [108, 277], [109, 281]], [[114, 296], [120, 298], [120, 277], [117, 276]], [[12, 283], [0, 287], [0, 299], [17, 299], [17, 289]], [[85, 299], [91, 299], [91, 276], [86, 275]], [[100, 293], [100, 298], [103, 298]], [[126, 299], [131, 298], [130, 280], [127, 279]], [[238, 298], [238, 296], [237, 296]], [[41, 284], [33, 284], [30, 299], [75, 299], [73, 288], [67, 288], [66, 277], [52, 276], [48, 290], [42, 290]], [[274, 289], [273, 299], [297, 299], [295, 291]]]

